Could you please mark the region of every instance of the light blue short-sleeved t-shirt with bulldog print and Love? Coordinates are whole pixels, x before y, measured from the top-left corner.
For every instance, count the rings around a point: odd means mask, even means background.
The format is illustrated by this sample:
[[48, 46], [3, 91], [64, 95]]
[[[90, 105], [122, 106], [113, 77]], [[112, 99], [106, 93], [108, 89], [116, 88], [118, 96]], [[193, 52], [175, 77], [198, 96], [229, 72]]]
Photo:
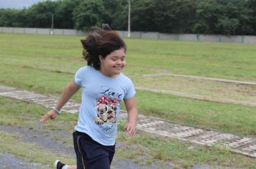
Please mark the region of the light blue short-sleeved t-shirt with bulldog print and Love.
[[78, 69], [75, 82], [83, 89], [75, 130], [85, 132], [101, 145], [114, 145], [121, 102], [135, 95], [132, 80], [122, 73], [106, 77], [86, 66]]

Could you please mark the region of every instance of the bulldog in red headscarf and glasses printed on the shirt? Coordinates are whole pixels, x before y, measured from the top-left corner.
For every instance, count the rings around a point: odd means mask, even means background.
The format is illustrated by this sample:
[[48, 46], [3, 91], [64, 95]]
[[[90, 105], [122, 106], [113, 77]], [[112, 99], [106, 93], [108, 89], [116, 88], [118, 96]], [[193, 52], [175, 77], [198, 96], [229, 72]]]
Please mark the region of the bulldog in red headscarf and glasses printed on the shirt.
[[119, 100], [106, 97], [105, 95], [99, 97], [96, 105], [97, 117], [93, 118], [96, 124], [115, 123], [117, 104], [119, 102]]

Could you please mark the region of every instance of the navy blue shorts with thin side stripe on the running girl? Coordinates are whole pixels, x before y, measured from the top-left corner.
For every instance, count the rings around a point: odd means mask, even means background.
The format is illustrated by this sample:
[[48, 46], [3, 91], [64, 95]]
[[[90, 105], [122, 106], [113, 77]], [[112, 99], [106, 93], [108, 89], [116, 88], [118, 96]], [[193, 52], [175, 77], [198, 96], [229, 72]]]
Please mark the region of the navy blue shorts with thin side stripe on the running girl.
[[94, 141], [83, 132], [73, 132], [78, 169], [109, 169], [115, 153], [115, 145], [106, 146]]

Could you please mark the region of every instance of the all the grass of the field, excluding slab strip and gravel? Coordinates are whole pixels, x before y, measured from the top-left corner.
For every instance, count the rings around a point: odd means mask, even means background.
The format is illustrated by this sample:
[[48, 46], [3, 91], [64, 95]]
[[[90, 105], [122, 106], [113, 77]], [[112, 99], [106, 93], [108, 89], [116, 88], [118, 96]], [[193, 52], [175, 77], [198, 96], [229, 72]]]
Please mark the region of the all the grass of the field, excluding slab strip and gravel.
[[[82, 59], [80, 39], [83, 37], [0, 34], [0, 84], [60, 96], [76, 70], [86, 64]], [[124, 73], [129, 74], [137, 86], [244, 101], [256, 99], [255, 87], [252, 86], [142, 76], [169, 72], [256, 82], [255, 44], [124, 40], [128, 47]], [[80, 92], [76, 93], [73, 100], [81, 101]], [[139, 112], [144, 115], [236, 135], [256, 135], [255, 107], [192, 100], [144, 90], [137, 90], [137, 104]], [[78, 115], [63, 113], [57, 120], [47, 122], [40, 130], [37, 126], [47, 108], [5, 97], [0, 97], [0, 105], [0, 125], [27, 127], [45, 137], [50, 137], [52, 131], [71, 133], [78, 118]], [[231, 168], [256, 166], [255, 159], [230, 153], [221, 146], [200, 147], [144, 132], [138, 132], [136, 137], [127, 137], [122, 125], [123, 122], [117, 137], [118, 142], [124, 143], [116, 152], [119, 158], [133, 159], [137, 163], [172, 162], [183, 168], [197, 164]], [[74, 163], [73, 157], [52, 153], [47, 149], [40, 150], [37, 145], [25, 143], [20, 137], [1, 131], [0, 152], [12, 153], [41, 165], [48, 165], [52, 159], [57, 158]], [[55, 135], [52, 140], [61, 141], [61, 137]], [[70, 146], [72, 140], [66, 139], [63, 144]]]

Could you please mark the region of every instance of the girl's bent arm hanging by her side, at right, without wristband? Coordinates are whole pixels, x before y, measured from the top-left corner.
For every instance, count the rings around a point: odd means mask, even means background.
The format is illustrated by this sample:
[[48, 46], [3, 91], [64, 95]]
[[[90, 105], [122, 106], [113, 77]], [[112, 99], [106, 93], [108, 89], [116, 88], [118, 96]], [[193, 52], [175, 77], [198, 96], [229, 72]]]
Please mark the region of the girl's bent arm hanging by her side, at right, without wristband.
[[124, 100], [124, 105], [128, 114], [125, 130], [129, 132], [129, 135], [133, 136], [135, 135], [135, 127], [138, 120], [138, 110], [135, 97]]

